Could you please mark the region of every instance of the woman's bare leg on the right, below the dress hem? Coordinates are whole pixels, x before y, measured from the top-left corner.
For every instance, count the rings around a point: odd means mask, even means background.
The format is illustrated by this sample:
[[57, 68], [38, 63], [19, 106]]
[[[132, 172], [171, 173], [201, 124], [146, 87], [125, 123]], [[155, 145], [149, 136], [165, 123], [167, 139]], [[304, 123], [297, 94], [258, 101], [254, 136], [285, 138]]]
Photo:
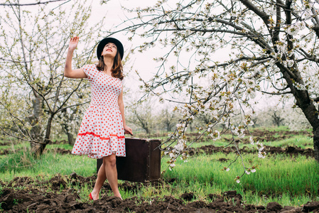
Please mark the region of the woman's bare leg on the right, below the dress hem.
[[105, 174], [109, 185], [112, 188], [115, 197], [121, 198], [119, 187], [117, 184], [117, 158], [115, 154], [103, 158], [103, 165], [105, 166]]

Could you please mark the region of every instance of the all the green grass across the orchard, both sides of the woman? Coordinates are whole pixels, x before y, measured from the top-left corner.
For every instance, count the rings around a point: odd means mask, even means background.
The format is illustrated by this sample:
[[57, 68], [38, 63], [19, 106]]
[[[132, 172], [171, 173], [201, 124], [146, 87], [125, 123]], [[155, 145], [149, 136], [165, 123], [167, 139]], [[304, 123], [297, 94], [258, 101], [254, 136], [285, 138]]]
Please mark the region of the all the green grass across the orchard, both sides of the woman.
[[[297, 146], [300, 148], [312, 148], [312, 138], [310, 136], [288, 135], [287, 129], [267, 129], [275, 131], [274, 137], [280, 138], [278, 141], [262, 141], [267, 146]], [[162, 138], [161, 136], [159, 136]], [[227, 136], [225, 136], [227, 137]], [[8, 145], [8, 141], [11, 143]], [[14, 143], [6, 139], [2, 141], [6, 146], [0, 146], [0, 151], [10, 150], [13, 153], [0, 155], [0, 179], [10, 182], [15, 177], [30, 177], [38, 180], [49, 180], [58, 173], [60, 175], [70, 175], [77, 173], [84, 177], [92, 176], [96, 173], [96, 160], [86, 156], [61, 155], [55, 153], [54, 148], [72, 149], [72, 146], [65, 143], [49, 145], [45, 154], [40, 158], [33, 158], [29, 152], [28, 143]], [[193, 144], [194, 148], [212, 144], [209, 138], [202, 142]], [[225, 146], [227, 141], [220, 140], [213, 143], [215, 146]], [[250, 144], [239, 144], [240, 147]], [[121, 189], [121, 195], [127, 197], [137, 196], [151, 198], [154, 196], [163, 197], [172, 195], [180, 197], [185, 192], [193, 192], [195, 200], [209, 202], [209, 194], [220, 195], [228, 190], [237, 190], [242, 195], [243, 201], [247, 204], [266, 205], [269, 202], [279, 202], [283, 206], [300, 206], [308, 201], [319, 201], [319, 164], [313, 158], [304, 155], [274, 154], [267, 155], [266, 158], [258, 158], [254, 153], [244, 153], [244, 163], [247, 166], [258, 165], [256, 173], [244, 175], [240, 183], [234, 181], [237, 175], [244, 172], [242, 162], [237, 160], [232, 165], [229, 172], [222, 170], [225, 166], [237, 157], [234, 153], [213, 153], [207, 155], [193, 155], [188, 158], [188, 162], [178, 160], [173, 170], [166, 170], [168, 158], [164, 157], [161, 161], [163, 173], [163, 185], [152, 187], [142, 185], [138, 190], [127, 191]], [[226, 161], [220, 161], [225, 158]], [[121, 181], [119, 181], [121, 183]], [[87, 195], [92, 190], [91, 187], [74, 187], [82, 199], [87, 199]], [[109, 193], [110, 191], [103, 191]]]

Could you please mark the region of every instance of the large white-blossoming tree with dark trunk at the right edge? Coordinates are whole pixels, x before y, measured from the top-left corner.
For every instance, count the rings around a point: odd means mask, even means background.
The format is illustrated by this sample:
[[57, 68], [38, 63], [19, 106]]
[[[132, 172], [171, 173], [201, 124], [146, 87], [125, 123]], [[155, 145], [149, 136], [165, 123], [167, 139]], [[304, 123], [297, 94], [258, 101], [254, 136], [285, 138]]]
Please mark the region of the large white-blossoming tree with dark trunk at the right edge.
[[[295, 107], [313, 127], [319, 161], [318, 8], [319, 2], [312, 0], [160, 0], [144, 9], [128, 9], [135, 17], [119, 31], [126, 31], [130, 40], [138, 35], [144, 39], [132, 51], [156, 45], [167, 50], [155, 58], [161, 67], [144, 89], [163, 99], [183, 94], [183, 99], [174, 99], [180, 104], [175, 110], [184, 116], [168, 140], [171, 167], [178, 156], [186, 158], [192, 142], [185, 141], [184, 132], [199, 114], [214, 117], [212, 124], [201, 127], [213, 140], [225, 131], [232, 133], [233, 143], [243, 138], [253, 125], [249, 100], [257, 92], [295, 99]], [[215, 59], [225, 53], [224, 59]], [[238, 115], [242, 122], [234, 124]], [[217, 124], [225, 128], [217, 131]], [[264, 158], [262, 144], [253, 137], [250, 141]], [[243, 174], [254, 171], [256, 166], [244, 165]]]

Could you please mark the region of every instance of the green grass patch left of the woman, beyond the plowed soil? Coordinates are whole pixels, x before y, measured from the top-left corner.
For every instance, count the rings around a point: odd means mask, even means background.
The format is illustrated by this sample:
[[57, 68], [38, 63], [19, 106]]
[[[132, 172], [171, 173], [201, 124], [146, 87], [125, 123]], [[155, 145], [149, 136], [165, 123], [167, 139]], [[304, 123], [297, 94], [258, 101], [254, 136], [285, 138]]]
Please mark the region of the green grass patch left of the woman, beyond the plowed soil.
[[28, 147], [15, 154], [6, 155], [0, 159], [0, 179], [12, 180], [16, 176], [36, 178], [38, 175], [52, 178], [55, 174], [91, 176], [96, 171], [96, 160], [86, 156], [60, 155], [46, 152], [39, 158], [34, 158]]

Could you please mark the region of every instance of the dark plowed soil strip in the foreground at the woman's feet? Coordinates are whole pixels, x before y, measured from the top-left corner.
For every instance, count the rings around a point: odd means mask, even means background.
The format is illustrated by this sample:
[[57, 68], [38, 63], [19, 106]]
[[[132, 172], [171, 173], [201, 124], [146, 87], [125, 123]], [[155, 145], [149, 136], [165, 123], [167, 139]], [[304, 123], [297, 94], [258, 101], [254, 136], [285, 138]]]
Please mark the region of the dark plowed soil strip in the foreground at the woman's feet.
[[[208, 201], [195, 200], [192, 192], [180, 197], [153, 197], [144, 200], [130, 197], [120, 200], [117, 197], [102, 195], [99, 200], [80, 200], [80, 196], [67, 182], [73, 185], [93, 185], [94, 177], [84, 178], [75, 173], [68, 177], [56, 175], [47, 182], [28, 177], [14, 178], [9, 183], [0, 182], [3, 187], [0, 195], [4, 212], [319, 212], [319, 202], [309, 202], [302, 207], [282, 207], [276, 202], [264, 206], [244, 204], [242, 195], [236, 191], [223, 192], [222, 195], [207, 195]], [[161, 185], [161, 181], [148, 183]], [[124, 182], [119, 185], [125, 190], [137, 190], [140, 183]], [[21, 188], [22, 190], [18, 190]], [[104, 188], [109, 189], [107, 183]], [[63, 189], [63, 190], [61, 190]], [[109, 189], [110, 190], [110, 189]]]

